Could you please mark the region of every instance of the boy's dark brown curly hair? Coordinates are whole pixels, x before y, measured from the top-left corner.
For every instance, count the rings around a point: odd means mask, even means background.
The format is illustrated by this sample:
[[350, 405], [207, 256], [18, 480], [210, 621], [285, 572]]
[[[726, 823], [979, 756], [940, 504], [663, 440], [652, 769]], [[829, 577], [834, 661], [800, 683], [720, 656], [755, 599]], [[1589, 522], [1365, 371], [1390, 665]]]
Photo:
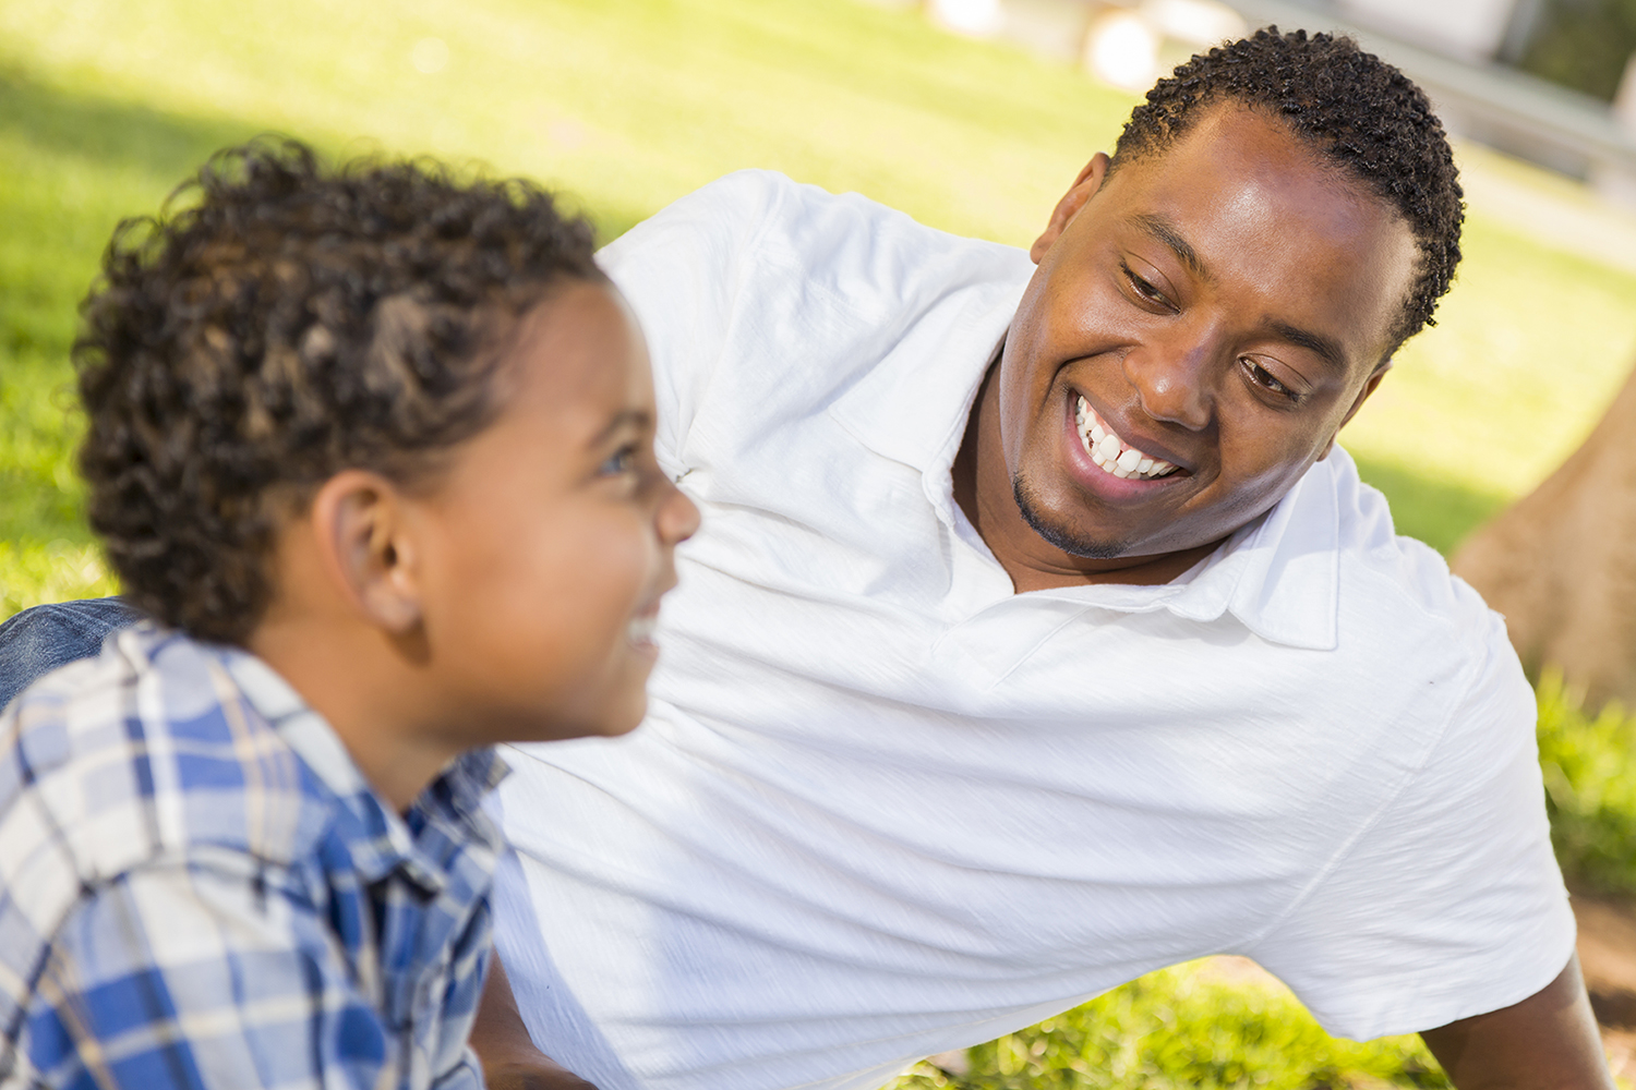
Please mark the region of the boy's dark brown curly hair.
[[124, 593], [244, 642], [283, 520], [342, 469], [429, 482], [497, 415], [520, 315], [604, 279], [592, 250], [528, 181], [330, 170], [288, 139], [218, 154], [119, 224], [74, 363], [90, 525]]

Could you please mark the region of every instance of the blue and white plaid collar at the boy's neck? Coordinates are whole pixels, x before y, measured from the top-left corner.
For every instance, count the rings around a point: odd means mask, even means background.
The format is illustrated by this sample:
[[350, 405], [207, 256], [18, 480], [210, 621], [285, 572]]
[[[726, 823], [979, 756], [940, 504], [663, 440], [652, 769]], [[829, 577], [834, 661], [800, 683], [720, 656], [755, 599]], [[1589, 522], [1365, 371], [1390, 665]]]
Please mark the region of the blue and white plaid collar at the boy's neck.
[[468, 750], [452, 760], [416, 797], [409, 812], [399, 815], [358, 771], [335, 729], [288, 681], [255, 655], [231, 647], [221, 649], [221, 654], [222, 667], [250, 708], [371, 832], [368, 840], [348, 843], [353, 866], [366, 884], [401, 871], [427, 894], [443, 891], [448, 882], [445, 866], [420, 848], [411, 825], [443, 825], [452, 842], [476, 842], [499, 853], [501, 833], [479, 806], [483, 796], [510, 771], [492, 748]]

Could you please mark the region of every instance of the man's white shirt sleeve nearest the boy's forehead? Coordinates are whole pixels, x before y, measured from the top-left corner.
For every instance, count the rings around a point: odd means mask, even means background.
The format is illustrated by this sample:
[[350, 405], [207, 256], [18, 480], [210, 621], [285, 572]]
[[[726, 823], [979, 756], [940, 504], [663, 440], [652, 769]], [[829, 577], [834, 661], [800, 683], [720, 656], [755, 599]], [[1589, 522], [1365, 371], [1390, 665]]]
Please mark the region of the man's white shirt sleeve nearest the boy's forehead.
[[721, 358], [746, 270], [769, 214], [793, 191], [784, 175], [739, 170], [636, 224], [597, 255], [636, 312], [653, 360], [659, 464], [679, 451]]

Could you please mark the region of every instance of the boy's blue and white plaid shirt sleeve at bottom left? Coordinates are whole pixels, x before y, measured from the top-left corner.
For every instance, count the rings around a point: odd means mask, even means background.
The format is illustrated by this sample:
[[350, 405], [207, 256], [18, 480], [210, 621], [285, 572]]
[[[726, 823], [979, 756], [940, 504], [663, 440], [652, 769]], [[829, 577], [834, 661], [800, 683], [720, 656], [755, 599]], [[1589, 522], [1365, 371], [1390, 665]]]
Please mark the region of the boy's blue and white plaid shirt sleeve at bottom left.
[[44, 951], [20, 1048], [56, 1087], [342, 1090], [399, 1061], [327, 922], [198, 860], [79, 902]]

